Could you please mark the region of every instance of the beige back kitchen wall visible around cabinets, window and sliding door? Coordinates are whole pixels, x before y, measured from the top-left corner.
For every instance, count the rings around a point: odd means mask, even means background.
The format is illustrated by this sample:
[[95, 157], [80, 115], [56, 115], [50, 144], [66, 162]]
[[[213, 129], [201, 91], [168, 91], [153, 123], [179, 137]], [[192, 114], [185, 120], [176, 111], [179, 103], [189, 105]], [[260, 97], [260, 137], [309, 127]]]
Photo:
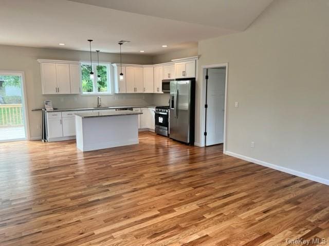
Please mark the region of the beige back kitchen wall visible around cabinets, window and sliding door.
[[[89, 53], [83, 51], [72, 51], [65, 49], [41, 49], [16, 46], [0, 46], [0, 70], [16, 70], [25, 73], [25, 84], [28, 104], [28, 120], [30, 137], [41, 136], [41, 112], [31, 111], [35, 108], [42, 108], [43, 101], [52, 100], [56, 108], [80, 108], [95, 107], [97, 96], [82, 95], [42, 95], [40, 64], [36, 59], [63, 59], [63, 60], [88, 60]], [[93, 54], [93, 59], [97, 57]], [[119, 63], [118, 54], [100, 53], [100, 61]], [[122, 63], [150, 64], [153, 57], [146, 55], [127, 55], [122, 57]], [[118, 105], [145, 105], [153, 104], [152, 94], [125, 94], [102, 96], [102, 103], [106, 106]]]

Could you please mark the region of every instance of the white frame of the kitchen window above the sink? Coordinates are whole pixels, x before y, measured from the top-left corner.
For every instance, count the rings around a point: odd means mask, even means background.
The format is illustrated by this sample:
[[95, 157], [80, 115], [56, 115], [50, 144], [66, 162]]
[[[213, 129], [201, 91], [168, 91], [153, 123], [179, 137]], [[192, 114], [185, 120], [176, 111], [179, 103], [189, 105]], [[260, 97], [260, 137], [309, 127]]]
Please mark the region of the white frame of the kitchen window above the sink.
[[93, 81], [93, 92], [84, 92], [82, 87], [82, 66], [88, 65], [90, 66], [90, 61], [80, 61], [80, 73], [81, 73], [81, 79], [80, 79], [80, 86], [81, 86], [81, 95], [82, 96], [95, 96], [95, 95], [113, 95], [112, 90], [112, 79], [111, 79], [111, 63], [99, 63], [99, 66], [106, 66], [107, 68], [107, 91], [104, 92], [98, 92], [97, 88], [97, 63], [93, 63], [93, 72], [94, 72], [94, 81]]

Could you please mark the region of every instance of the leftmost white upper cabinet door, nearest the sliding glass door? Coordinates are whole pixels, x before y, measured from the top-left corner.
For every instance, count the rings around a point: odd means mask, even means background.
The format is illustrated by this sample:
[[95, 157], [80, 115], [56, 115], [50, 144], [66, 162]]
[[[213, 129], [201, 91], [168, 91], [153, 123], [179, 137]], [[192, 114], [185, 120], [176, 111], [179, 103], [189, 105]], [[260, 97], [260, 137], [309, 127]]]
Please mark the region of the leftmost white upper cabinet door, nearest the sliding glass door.
[[42, 81], [42, 94], [56, 94], [57, 93], [57, 80], [56, 80], [56, 64], [42, 63], [41, 68], [41, 81]]

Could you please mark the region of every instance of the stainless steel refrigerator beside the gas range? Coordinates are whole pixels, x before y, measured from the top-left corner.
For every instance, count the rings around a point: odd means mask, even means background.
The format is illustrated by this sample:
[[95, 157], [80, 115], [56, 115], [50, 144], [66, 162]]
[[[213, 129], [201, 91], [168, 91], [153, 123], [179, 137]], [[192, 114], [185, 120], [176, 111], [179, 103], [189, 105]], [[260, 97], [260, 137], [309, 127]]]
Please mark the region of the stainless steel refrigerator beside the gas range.
[[194, 145], [195, 78], [170, 81], [169, 137]]

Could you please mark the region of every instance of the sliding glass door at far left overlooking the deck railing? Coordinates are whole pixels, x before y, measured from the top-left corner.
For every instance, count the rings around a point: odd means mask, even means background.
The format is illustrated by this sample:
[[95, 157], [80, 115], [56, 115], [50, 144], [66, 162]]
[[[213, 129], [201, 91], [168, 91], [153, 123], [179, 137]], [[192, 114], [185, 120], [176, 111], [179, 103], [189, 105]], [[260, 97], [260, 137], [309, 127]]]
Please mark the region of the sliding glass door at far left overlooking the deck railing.
[[26, 139], [23, 74], [0, 71], [0, 142]]

